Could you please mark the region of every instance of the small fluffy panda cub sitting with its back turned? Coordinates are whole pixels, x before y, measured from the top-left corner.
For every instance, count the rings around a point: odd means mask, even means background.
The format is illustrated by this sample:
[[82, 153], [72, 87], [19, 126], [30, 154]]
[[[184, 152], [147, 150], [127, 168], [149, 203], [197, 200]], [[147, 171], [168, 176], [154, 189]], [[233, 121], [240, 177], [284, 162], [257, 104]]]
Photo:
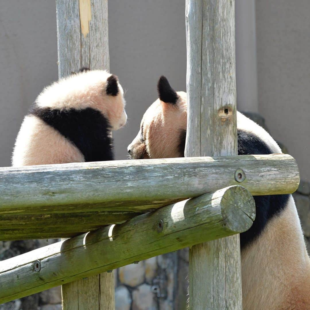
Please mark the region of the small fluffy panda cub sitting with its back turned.
[[12, 166], [113, 160], [111, 130], [125, 125], [115, 75], [82, 68], [38, 95], [15, 141]]

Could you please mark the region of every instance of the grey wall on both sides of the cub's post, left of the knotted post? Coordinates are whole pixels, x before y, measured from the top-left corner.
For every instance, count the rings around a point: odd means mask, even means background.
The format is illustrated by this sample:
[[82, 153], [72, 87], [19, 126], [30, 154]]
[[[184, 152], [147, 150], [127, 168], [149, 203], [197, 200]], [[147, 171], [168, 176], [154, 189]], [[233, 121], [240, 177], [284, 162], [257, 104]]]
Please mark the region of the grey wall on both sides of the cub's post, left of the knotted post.
[[[109, 1], [110, 69], [126, 89], [128, 125], [115, 132], [116, 158], [157, 99], [161, 74], [186, 87], [185, 1]], [[0, 166], [10, 165], [14, 139], [31, 103], [58, 78], [55, 1], [6, 1], [0, 9]]]

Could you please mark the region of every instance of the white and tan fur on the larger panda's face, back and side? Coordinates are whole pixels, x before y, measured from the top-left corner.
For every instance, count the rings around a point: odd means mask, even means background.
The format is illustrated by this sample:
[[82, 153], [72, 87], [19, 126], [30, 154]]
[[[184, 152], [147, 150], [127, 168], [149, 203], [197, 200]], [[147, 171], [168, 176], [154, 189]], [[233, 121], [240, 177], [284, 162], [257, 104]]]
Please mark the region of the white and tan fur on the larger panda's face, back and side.
[[[132, 158], [183, 155], [177, 143], [180, 129], [186, 129], [184, 94], [177, 106], [157, 99], [148, 108], [141, 121], [144, 141], [140, 129], [128, 146]], [[237, 128], [259, 137], [271, 152], [282, 153], [267, 131], [239, 112]], [[310, 310], [310, 259], [291, 195], [281, 214], [270, 219], [260, 236], [241, 251], [241, 275], [243, 309]]]

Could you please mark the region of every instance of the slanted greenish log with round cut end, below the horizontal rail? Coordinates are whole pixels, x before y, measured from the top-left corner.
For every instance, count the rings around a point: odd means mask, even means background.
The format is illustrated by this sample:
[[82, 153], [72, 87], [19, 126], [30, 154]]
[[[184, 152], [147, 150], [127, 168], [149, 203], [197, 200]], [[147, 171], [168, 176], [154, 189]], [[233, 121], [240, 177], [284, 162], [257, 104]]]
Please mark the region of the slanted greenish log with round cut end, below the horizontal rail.
[[254, 218], [253, 197], [245, 188], [232, 186], [33, 250], [2, 261], [0, 303], [246, 231]]

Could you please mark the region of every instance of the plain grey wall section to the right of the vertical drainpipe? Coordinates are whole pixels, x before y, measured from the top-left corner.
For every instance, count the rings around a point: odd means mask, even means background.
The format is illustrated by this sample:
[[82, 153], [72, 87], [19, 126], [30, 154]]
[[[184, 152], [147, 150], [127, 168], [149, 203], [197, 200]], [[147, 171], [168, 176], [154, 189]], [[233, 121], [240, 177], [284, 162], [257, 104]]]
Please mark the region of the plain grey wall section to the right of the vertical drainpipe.
[[310, 180], [310, 1], [256, 1], [259, 112]]

